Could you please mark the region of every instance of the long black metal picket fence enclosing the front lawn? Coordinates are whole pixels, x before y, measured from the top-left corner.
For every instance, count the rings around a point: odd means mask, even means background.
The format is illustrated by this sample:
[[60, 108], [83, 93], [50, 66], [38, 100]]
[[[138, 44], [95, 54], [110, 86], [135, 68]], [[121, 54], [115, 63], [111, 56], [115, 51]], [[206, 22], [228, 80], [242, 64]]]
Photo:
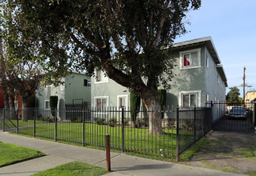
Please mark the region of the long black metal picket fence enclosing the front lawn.
[[6, 117], [2, 109], [0, 123], [2, 130], [83, 146], [105, 146], [105, 135], [109, 134], [112, 149], [177, 159], [207, 134], [212, 125], [211, 108], [167, 108], [161, 111], [167, 117], [160, 118], [161, 133], [149, 134], [148, 117], [152, 111], [141, 108], [137, 113], [136, 119], [132, 119], [130, 110], [117, 107], [102, 111], [82, 108], [19, 110], [17, 114], [28, 117], [27, 122], [22, 122]]

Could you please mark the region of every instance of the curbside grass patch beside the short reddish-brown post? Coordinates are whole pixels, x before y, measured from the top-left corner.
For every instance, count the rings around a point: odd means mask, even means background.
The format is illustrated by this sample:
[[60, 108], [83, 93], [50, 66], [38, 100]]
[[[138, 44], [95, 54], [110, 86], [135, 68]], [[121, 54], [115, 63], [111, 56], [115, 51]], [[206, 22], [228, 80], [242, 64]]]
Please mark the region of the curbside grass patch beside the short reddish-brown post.
[[76, 176], [76, 175], [90, 175], [97, 176], [102, 174], [107, 174], [108, 171], [105, 168], [92, 166], [83, 162], [70, 162], [64, 164], [62, 166], [57, 166], [50, 170], [44, 170], [37, 174], [33, 174], [35, 176], [44, 176], [44, 175], [67, 175], [67, 176]]

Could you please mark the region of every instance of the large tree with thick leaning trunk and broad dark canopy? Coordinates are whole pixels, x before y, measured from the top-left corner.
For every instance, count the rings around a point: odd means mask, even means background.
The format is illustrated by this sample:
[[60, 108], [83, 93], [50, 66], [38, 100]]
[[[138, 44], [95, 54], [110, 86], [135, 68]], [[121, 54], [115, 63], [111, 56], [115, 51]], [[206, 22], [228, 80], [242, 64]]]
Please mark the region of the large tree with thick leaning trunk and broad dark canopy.
[[[167, 50], [185, 34], [185, 14], [201, 0], [17, 0], [39, 41], [40, 59], [54, 70], [101, 69], [115, 82], [136, 91], [149, 110], [149, 133], [160, 134], [157, 87], [170, 88], [173, 61]], [[163, 50], [166, 49], [166, 50]], [[156, 131], [156, 132], [154, 132]]]

